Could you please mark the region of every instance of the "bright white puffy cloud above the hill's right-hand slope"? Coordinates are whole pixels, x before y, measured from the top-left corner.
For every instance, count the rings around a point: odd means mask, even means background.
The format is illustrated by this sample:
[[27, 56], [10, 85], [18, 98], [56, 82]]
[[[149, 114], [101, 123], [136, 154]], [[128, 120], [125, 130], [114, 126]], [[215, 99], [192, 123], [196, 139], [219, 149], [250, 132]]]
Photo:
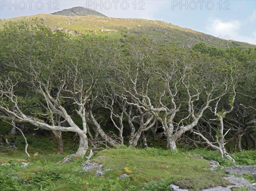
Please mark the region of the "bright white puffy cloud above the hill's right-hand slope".
[[208, 34], [212, 34], [215, 37], [224, 37], [224, 35], [228, 35], [230, 40], [256, 44], [256, 31], [253, 31], [249, 36], [244, 36], [239, 34], [241, 26], [242, 24], [239, 20], [225, 22], [217, 18], [210, 19], [206, 29]]

